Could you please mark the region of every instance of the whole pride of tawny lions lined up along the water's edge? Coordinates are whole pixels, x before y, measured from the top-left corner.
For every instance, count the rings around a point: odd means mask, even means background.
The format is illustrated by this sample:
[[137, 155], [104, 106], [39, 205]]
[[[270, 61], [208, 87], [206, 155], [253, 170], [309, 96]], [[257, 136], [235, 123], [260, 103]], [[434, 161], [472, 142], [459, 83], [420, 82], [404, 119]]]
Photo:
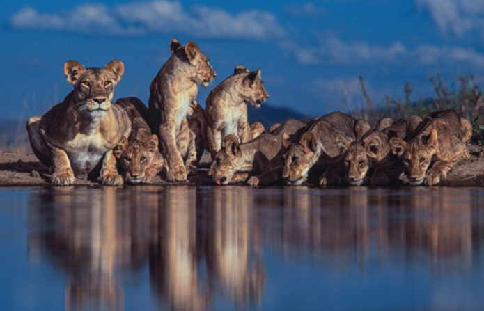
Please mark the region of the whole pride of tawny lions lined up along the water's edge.
[[148, 107], [136, 97], [111, 102], [124, 72], [121, 61], [86, 68], [67, 61], [64, 73], [74, 87], [45, 115], [28, 120], [36, 157], [51, 168], [51, 181], [70, 185], [76, 178], [102, 184], [183, 182], [198, 172], [204, 150], [217, 184], [252, 186], [283, 182], [299, 185], [433, 185], [469, 157], [469, 120], [455, 111], [425, 119], [383, 118], [374, 129], [366, 120], [341, 112], [310, 122], [290, 119], [265, 132], [249, 124], [247, 104], [259, 108], [269, 95], [260, 69], [237, 65], [214, 88], [205, 110], [196, 102], [216, 76], [208, 57], [194, 42], [173, 38], [171, 57], [150, 85]]

